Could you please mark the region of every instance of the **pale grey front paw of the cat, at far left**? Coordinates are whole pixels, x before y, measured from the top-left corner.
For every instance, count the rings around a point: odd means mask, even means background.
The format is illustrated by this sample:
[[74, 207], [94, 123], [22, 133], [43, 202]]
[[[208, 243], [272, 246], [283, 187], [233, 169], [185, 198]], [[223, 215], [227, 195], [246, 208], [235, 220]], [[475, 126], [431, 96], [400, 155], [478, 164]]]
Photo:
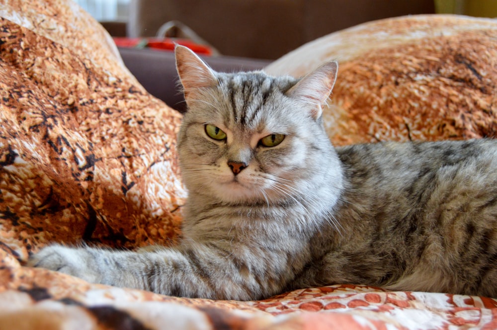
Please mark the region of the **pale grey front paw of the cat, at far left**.
[[84, 248], [52, 245], [31, 256], [27, 265], [56, 270], [88, 282], [99, 283], [101, 275], [94, 268], [93, 259], [92, 254]]

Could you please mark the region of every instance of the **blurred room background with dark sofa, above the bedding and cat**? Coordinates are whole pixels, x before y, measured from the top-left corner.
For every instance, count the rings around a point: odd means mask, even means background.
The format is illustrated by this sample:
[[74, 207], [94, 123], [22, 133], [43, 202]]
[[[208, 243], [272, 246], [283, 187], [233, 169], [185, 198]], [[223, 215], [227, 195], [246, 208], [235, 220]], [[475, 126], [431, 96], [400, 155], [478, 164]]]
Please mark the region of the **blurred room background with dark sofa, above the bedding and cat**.
[[[114, 37], [124, 64], [154, 96], [186, 110], [175, 43], [215, 70], [256, 70], [360, 23], [403, 15], [496, 17], [497, 0], [75, 0]], [[168, 50], [168, 51], [165, 51]]]

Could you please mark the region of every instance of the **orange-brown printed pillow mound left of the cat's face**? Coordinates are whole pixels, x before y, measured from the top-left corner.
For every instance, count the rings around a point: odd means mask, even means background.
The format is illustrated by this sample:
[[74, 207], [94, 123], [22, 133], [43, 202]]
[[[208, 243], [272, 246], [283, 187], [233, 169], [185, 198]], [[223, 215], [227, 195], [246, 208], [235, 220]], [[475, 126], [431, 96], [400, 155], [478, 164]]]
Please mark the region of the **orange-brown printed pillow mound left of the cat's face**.
[[2, 248], [26, 260], [49, 242], [167, 245], [185, 198], [181, 116], [144, 90], [95, 20], [49, 2], [0, 8]]

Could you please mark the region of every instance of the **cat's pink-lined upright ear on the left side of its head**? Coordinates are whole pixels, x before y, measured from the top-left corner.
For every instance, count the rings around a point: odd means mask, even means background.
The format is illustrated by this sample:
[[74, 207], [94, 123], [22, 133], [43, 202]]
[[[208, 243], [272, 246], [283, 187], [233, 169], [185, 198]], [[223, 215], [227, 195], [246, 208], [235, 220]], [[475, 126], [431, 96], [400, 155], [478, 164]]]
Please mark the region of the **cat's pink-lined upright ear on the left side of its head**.
[[189, 48], [176, 45], [174, 55], [185, 98], [193, 89], [217, 85], [218, 80], [214, 71]]

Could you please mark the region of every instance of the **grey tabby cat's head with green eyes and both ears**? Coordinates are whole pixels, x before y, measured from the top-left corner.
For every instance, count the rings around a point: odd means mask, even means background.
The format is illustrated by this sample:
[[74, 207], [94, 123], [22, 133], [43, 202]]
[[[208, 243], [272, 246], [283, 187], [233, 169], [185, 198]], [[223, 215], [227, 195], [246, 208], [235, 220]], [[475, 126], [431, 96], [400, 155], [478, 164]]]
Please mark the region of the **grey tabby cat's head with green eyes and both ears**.
[[185, 47], [175, 53], [188, 106], [178, 152], [190, 195], [268, 203], [326, 178], [336, 157], [321, 114], [336, 62], [299, 80], [219, 73]]

